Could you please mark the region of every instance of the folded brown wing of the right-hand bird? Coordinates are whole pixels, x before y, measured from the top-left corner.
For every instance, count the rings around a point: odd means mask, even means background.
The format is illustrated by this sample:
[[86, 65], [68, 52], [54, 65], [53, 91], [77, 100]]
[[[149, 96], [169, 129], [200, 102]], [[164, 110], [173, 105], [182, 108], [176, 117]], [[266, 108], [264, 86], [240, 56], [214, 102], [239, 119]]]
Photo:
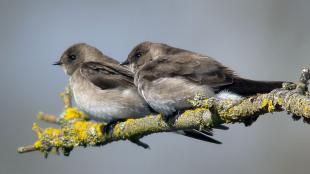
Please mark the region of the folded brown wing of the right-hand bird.
[[198, 54], [179, 54], [160, 57], [145, 64], [139, 78], [156, 80], [162, 77], [182, 76], [199, 84], [216, 88], [233, 83], [233, 71], [214, 59]]

